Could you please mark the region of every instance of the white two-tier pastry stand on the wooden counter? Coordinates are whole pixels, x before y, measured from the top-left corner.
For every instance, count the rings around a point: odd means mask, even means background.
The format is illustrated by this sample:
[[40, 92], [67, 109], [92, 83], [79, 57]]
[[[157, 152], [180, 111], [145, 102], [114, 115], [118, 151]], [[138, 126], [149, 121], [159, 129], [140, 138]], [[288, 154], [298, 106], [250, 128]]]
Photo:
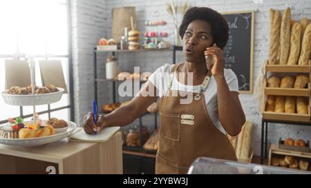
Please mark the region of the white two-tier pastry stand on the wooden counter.
[[[36, 105], [48, 105], [50, 103], [55, 103], [62, 98], [64, 92], [63, 88], [57, 87], [57, 92], [52, 92], [48, 94], [35, 94], [35, 61], [30, 58], [28, 60], [28, 65], [30, 68], [30, 79], [31, 79], [31, 94], [9, 94], [9, 90], [1, 92], [3, 101], [8, 105], [17, 106], [31, 106], [33, 107], [32, 121], [25, 121], [25, 125], [35, 125], [37, 122], [36, 117]], [[46, 121], [42, 121], [46, 123]], [[67, 138], [75, 131], [77, 125], [71, 121], [66, 121], [68, 128], [64, 132], [55, 132], [55, 134], [41, 137], [32, 138], [0, 138], [0, 143], [4, 145], [16, 145], [25, 147], [34, 147], [38, 145], [45, 145], [48, 143], [53, 143], [57, 140], [62, 140]], [[1, 125], [6, 126], [6, 125]]]

